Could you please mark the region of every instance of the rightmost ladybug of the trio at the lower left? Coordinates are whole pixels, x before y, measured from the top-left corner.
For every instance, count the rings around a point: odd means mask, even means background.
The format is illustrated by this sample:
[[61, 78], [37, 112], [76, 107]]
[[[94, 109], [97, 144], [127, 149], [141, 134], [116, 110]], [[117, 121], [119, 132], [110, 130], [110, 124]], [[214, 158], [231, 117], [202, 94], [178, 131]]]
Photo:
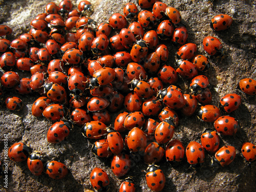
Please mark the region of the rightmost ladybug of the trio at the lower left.
[[50, 161], [46, 164], [46, 174], [53, 179], [62, 179], [68, 175], [68, 168], [58, 161]]

